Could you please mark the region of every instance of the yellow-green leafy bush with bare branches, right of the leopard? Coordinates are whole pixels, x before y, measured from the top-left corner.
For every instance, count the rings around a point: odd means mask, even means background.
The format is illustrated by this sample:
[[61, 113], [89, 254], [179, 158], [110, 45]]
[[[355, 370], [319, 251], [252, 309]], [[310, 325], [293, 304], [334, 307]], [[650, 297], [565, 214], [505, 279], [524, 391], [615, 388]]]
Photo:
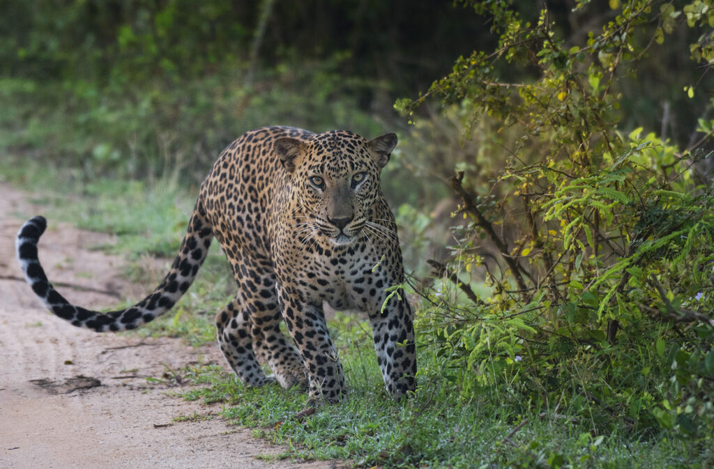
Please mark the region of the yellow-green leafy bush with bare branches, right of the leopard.
[[[423, 292], [422, 337], [448, 358], [464, 398], [516, 393], [532, 406], [573, 406], [598, 433], [675, 429], [706, 448], [714, 186], [698, 186], [689, 168], [710, 158], [697, 147], [712, 125], [701, 121], [698, 141], [680, 149], [617, 123], [620, 78], [684, 17], [708, 24], [713, 11], [610, 2], [613, 18], [572, 44], [547, 9], [523, 19], [507, 1], [461, 3], [490, 16], [498, 47], [459, 58], [426, 94], [396, 105], [418, 122], [428, 96], [459, 103], [466, 136], [492, 161], [478, 151], [451, 180], [467, 223], [443, 281]], [[691, 53], [710, 64], [708, 38]], [[513, 81], [523, 67], [535, 79]], [[475, 274], [490, 291], [471, 301]]]

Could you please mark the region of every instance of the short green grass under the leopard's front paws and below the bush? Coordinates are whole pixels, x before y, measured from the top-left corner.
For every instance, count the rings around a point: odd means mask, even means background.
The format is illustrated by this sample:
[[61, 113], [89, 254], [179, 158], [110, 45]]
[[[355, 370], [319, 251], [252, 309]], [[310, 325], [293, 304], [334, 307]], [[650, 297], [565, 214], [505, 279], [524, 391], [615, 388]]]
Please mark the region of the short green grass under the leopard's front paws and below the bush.
[[341, 405], [298, 418], [303, 390], [246, 388], [218, 365], [183, 370], [200, 385], [184, 396], [220, 403], [219, 415], [228, 423], [288, 445], [284, 455], [291, 458], [351, 459], [385, 468], [705, 467], [698, 465], [695, 448], [666, 435], [598, 434], [567, 408], [528, 408], [514, 403], [516, 396], [487, 390], [463, 400], [444, 379], [443, 360], [428, 347], [421, 347], [416, 395], [395, 402], [383, 390], [368, 325], [338, 315], [331, 329], [350, 388]]

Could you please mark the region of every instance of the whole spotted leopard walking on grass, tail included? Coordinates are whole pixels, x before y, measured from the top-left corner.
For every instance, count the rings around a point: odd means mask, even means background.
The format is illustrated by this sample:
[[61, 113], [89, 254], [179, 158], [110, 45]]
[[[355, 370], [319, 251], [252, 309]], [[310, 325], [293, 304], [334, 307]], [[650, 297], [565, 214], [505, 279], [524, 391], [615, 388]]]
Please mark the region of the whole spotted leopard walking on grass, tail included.
[[382, 169], [397, 143], [395, 133], [368, 141], [351, 131], [288, 126], [243, 133], [201, 183], [186, 234], [159, 286], [118, 311], [75, 306], [56, 291], [38, 257], [43, 216], [21, 226], [16, 256], [51, 313], [80, 328], [116, 332], [169, 311], [216, 238], [238, 292], [216, 314], [218, 346], [244, 385], [301, 386], [312, 405], [346, 399], [327, 304], [368, 318], [386, 392], [401, 399], [416, 389], [414, 314], [404, 292], [395, 218], [381, 190]]

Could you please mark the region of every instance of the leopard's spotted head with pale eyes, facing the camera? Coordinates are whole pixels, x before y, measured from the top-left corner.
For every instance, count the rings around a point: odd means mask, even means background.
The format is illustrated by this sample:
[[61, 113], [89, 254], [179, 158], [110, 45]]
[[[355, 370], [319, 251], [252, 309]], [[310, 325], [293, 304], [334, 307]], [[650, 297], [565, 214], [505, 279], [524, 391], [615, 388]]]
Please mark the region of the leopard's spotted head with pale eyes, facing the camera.
[[394, 133], [370, 141], [348, 131], [316, 133], [304, 141], [278, 138], [274, 148], [301, 208], [296, 233], [324, 236], [338, 246], [363, 236], [381, 198], [381, 170], [396, 144]]

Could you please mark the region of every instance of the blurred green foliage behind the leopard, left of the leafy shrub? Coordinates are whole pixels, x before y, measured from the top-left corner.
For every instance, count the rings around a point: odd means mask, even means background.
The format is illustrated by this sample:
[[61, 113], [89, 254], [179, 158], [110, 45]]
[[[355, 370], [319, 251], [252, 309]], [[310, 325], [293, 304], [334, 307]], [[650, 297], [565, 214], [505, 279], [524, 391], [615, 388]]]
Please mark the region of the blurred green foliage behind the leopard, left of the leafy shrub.
[[[376, 136], [393, 118], [393, 93], [428, 84], [426, 71], [450, 60], [414, 64], [402, 54], [436, 44], [456, 53], [453, 32], [473, 29], [475, 19], [453, 9], [438, 21], [394, 21], [436, 4], [9, 0], [0, 149], [82, 167], [87, 178], [168, 173], [195, 184], [251, 128]], [[384, 34], [365, 34], [366, 24]]]

